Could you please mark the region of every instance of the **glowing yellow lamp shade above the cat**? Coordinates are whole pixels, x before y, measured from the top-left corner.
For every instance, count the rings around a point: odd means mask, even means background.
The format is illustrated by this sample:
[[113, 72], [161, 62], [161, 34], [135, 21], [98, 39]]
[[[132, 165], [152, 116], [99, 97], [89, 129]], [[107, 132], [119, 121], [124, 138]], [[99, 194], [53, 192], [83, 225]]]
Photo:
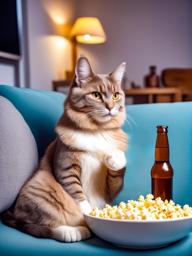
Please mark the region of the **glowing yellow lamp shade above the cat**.
[[70, 37], [75, 37], [78, 43], [98, 44], [107, 39], [105, 31], [98, 18], [82, 17], [74, 23]]

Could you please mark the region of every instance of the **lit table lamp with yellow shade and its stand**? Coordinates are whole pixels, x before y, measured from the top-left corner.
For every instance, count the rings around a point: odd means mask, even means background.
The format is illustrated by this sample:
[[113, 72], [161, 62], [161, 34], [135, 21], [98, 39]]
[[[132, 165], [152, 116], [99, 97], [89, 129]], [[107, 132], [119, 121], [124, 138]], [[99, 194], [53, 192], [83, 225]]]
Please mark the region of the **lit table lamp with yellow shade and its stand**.
[[93, 17], [78, 18], [70, 31], [69, 37], [72, 43], [72, 70], [66, 71], [66, 76], [67, 80], [72, 80], [77, 61], [77, 42], [86, 44], [98, 44], [104, 43], [107, 37], [98, 18]]

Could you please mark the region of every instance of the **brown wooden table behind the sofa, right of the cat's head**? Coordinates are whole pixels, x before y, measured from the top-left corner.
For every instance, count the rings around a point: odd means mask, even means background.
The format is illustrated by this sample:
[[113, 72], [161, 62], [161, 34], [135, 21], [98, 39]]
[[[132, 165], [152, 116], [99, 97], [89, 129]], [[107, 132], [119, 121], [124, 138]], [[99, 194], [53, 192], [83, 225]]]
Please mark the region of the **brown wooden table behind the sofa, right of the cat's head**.
[[134, 98], [134, 104], [143, 103], [139, 102], [138, 96], [147, 97], [147, 103], [182, 101], [182, 91], [180, 88], [133, 88], [123, 89], [123, 91], [126, 97]]

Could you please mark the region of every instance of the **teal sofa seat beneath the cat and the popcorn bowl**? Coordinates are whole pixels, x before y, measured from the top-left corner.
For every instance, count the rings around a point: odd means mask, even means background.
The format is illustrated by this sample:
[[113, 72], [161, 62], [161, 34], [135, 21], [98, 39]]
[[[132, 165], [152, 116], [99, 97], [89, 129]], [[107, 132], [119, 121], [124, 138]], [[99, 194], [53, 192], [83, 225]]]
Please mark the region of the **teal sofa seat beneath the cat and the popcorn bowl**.
[[0, 222], [0, 256], [191, 256], [191, 252], [192, 233], [167, 247], [137, 250], [117, 247], [94, 235], [76, 243], [35, 238]]

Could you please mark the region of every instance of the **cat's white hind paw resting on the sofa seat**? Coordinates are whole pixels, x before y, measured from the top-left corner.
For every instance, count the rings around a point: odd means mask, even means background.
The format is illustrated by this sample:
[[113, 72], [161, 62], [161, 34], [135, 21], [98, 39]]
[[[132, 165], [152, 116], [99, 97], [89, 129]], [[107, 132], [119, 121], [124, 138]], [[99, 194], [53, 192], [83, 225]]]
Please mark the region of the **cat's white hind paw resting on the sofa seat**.
[[65, 243], [74, 243], [91, 237], [91, 233], [87, 227], [69, 227], [60, 226], [54, 229], [53, 239]]

